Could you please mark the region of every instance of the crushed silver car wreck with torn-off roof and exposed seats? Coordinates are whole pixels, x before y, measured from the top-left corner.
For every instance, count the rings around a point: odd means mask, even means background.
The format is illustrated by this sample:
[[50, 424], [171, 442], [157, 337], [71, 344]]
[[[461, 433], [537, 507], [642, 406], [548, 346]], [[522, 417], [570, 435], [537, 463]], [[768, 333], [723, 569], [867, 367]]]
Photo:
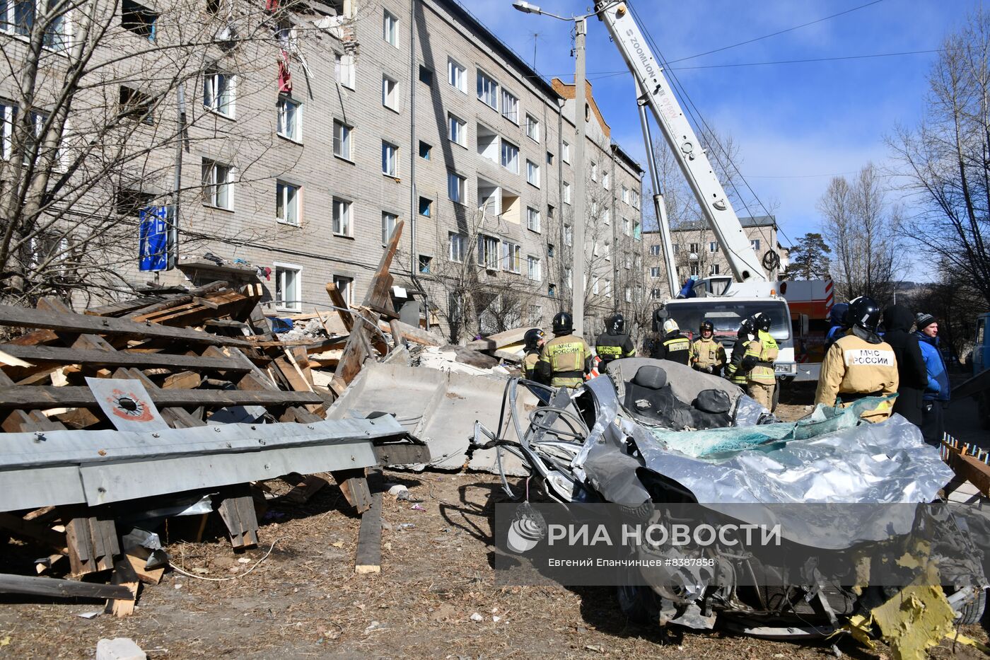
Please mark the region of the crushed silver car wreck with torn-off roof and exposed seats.
[[[525, 417], [516, 405], [524, 390], [542, 401]], [[754, 548], [716, 545], [702, 550], [709, 565], [654, 562], [624, 572], [618, 601], [638, 620], [860, 637], [871, 612], [909, 589], [935, 590], [949, 625], [979, 620], [987, 588], [980, 548], [990, 525], [938, 505], [952, 472], [903, 417], [862, 422], [859, 412], [877, 403], [817, 406], [781, 422], [723, 379], [630, 358], [574, 389], [510, 380], [498, 427], [476, 423], [467, 453], [517, 457], [530, 477], [517, 492], [503, 474], [506, 493], [540, 493], [575, 515], [607, 502], [631, 519], [674, 519], [691, 505], [706, 522], [783, 521], [784, 547], [769, 560]], [[637, 552], [669, 558], [679, 550], [644, 544]], [[931, 630], [940, 638], [937, 625]]]

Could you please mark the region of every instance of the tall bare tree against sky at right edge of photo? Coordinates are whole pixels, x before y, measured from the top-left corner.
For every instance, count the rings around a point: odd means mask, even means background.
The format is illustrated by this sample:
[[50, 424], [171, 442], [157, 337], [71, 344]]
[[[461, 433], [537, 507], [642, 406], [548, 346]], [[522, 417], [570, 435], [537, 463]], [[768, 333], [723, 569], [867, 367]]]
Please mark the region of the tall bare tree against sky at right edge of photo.
[[905, 233], [990, 305], [990, 12], [945, 38], [929, 73], [925, 119], [888, 144], [921, 212]]

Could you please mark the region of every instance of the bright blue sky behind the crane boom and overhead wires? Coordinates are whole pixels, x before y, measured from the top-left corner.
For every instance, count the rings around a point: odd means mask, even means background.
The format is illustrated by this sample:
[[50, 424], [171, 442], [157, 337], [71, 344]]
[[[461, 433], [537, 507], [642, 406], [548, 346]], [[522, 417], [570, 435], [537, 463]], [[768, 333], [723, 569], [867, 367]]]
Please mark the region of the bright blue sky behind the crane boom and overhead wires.
[[[634, 2], [667, 61], [690, 57], [815, 21], [871, 0], [639, 0]], [[573, 79], [572, 25], [512, 9], [511, 0], [463, 4], [546, 77]], [[585, 3], [532, 2], [571, 16]], [[884, 137], [921, 119], [936, 54], [807, 63], [683, 68], [746, 62], [930, 51], [959, 28], [979, 0], [880, 0], [837, 18], [721, 53], [670, 64], [706, 121], [733, 136], [740, 169], [756, 194], [779, 204], [788, 245], [818, 231], [815, 205], [831, 175], [872, 161], [893, 165]], [[597, 20], [588, 22], [588, 78], [612, 136], [643, 165], [632, 76]], [[683, 103], [683, 99], [681, 99]], [[892, 192], [890, 199], [897, 198]], [[744, 209], [737, 209], [744, 215]]]

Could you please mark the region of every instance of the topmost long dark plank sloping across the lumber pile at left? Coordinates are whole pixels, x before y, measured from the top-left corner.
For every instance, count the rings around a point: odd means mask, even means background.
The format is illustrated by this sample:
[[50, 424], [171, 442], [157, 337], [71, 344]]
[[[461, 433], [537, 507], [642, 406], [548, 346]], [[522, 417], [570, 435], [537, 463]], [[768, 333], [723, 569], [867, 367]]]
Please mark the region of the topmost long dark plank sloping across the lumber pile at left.
[[85, 316], [83, 314], [60, 314], [27, 307], [0, 305], [0, 325], [18, 328], [41, 328], [59, 332], [91, 333], [140, 339], [160, 337], [193, 344], [213, 346], [250, 346], [249, 342], [232, 337], [211, 335], [187, 328], [170, 328], [152, 323], [135, 323], [120, 318], [106, 316]]

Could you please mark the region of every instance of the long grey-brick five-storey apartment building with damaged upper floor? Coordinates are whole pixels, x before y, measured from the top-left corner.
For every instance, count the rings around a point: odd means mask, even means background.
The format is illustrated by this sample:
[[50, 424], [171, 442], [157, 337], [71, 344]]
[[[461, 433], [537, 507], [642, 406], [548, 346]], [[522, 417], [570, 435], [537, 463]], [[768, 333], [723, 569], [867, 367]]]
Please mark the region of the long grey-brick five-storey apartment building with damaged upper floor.
[[[5, 5], [2, 38], [30, 58], [49, 17], [22, 4]], [[62, 183], [15, 236], [26, 272], [53, 273], [46, 293], [257, 275], [272, 312], [326, 308], [329, 282], [356, 304], [401, 220], [398, 302], [426, 299], [454, 339], [548, 326], [569, 308], [573, 85], [547, 83], [450, 0], [199, 4], [98, 2], [99, 25], [69, 9], [42, 30], [48, 87], [30, 99], [15, 84], [25, 67], [8, 62], [5, 151], [33, 108], [22, 151], [50, 155]], [[99, 84], [64, 107], [57, 90], [86, 38]], [[636, 317], [648, 292], [643, 170], [588, 92], [594, 333], [614, 309]], [[139, 240], [150, 216], [167, 238], [157, 248]]]

